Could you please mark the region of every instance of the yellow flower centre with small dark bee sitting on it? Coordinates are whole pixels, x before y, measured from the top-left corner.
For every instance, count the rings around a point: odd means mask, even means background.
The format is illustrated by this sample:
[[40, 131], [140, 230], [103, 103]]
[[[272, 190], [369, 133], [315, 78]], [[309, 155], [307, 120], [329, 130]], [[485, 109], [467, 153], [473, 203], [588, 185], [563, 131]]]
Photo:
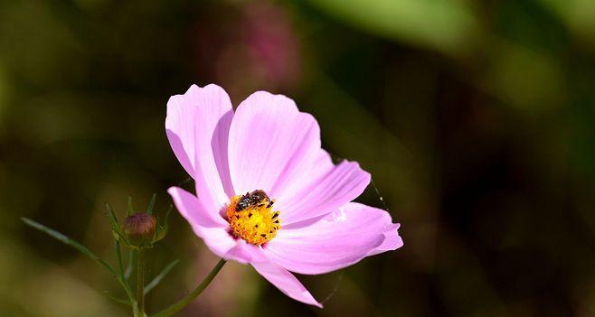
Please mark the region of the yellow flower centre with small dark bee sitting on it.
[[272, 210], [274, 202], [260, 190], [233, 196], [227, 208], [231, 234], [256, 246], [275, 238], [281, 219], [279, 211]]

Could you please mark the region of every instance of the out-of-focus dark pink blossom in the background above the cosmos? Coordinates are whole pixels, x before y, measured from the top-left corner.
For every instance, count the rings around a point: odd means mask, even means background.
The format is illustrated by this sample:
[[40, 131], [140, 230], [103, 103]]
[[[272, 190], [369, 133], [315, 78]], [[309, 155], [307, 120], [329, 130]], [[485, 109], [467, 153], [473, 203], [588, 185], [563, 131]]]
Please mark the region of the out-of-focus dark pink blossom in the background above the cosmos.
[[258, 87], [291, 91], [299, 85], [302, 54], [291, 15], [269, 1], [224, 6], [220, 19], [199, 19], [194, 34], [197, 73], [221, 82], [231, 96]]

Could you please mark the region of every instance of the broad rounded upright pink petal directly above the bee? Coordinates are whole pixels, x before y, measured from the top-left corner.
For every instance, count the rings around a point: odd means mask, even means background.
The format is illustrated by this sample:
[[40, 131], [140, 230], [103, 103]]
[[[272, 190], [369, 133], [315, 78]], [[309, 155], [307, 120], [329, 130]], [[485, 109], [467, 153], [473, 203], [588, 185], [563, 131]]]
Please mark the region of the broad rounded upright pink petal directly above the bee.
[[320, 128], [293, 100], [258, 91], [237, 108], [229, 146], [235, 192], [260, 189], [275, 199], [318, 158]]

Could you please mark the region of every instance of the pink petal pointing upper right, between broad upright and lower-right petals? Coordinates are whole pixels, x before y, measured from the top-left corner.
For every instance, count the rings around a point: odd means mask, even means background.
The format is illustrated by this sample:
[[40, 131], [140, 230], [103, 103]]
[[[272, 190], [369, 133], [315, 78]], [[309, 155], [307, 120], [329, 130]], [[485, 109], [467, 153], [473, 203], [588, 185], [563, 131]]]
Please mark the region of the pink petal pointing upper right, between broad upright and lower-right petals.
[[304, 173], [295, 182], [309, 184], [279, 196], [276, 208], [281, 211], [282, 226], [323, 216], [354, 200], [370, 183], [370, 174], [358, 163], [343, 161], [316, 179]]

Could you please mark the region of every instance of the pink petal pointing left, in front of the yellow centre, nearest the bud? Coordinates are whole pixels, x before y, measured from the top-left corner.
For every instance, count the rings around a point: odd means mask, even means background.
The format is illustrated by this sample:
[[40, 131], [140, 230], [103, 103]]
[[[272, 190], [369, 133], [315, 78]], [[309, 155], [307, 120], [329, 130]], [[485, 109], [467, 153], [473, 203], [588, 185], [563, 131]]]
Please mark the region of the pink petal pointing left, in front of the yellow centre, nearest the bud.
[[215, 255], [240, 263], [264, 260], [260, 249], [232, 238], [228, 233], [227, 221], [219, 213], [206, 210], [196, 196], [178, 187], [171, 187], [167, 192], [182, 217], [192, 226], [194, 234], [203, 238], [204, 244]]

